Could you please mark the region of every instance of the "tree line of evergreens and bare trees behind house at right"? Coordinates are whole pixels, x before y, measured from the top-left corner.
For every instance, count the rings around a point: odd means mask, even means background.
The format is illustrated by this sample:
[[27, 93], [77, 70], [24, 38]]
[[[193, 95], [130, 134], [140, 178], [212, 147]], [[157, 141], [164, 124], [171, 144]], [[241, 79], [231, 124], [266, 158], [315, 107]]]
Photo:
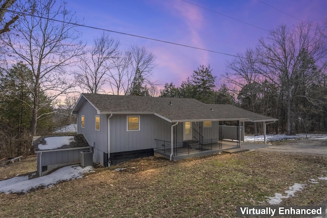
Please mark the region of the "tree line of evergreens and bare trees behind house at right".
[[[326, 26], [326, 23], [325, 23]], [[176, 87], [166, 83], [160, 96], [233, 104], [278, 118], [270, 133], [327, 131], [326, 29], [310, 22], [285, 25], [259, 39], [258, 46], [226, 63], [221, 86], [210, 66], [200, 66]], [[258, 134], [258, 126], [252, 132]]]

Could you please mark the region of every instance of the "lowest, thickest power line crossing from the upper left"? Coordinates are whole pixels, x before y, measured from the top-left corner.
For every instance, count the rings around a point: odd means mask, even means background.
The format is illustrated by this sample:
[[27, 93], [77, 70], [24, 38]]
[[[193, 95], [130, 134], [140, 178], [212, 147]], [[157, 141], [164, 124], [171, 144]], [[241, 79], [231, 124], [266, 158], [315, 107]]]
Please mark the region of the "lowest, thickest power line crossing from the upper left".
[[[1, 9], [0, 8], [0, 10], [6, 10], [6, 9]], [[12, 10], [6, 10], [6, 11], [11, 12], [11, 13], [16, 13], [16, 14], [22, 14], [22, 15], [25, 15], [25, 16], [34, 16], [34, 17], [38, 17], [38, 18], [41, 18], [41, 19], [48, 19], [48, 20], [52, 20], [52, 21], [67, 23], [67, 24], [75, 25], [75, 26], [79, 26], [79, 27], [85, 27], [85, 28], [90, 28], [90, 29], [95, 29], [95, 30], [102, 30], [102, 31], [106, 31], [106, 32], [117, 33], [117, 34], [122, 34], [122, 35], [127, 35], [127, 36], [133, 36], [133, 37], [148, 39], [148, 40], [152, 40], [152, 41], [158, 41], [158, 42], [163, 42], [163, 43], [168, 43], [168, 44], [173, 44], [173, 45], [178, 45], [178, 46], [183, 46], [183, 47], [189, 47], [191, 49], [197, 49], [197, 50], [201, 50], [201, 51], [212, 52], [212, 53], [217, 53], [217, 54], [221, 54], [221, 55], [227, 55], [227, 56], [241, 58], [238, 55], [231, 55], [231, 54], [227, 54], [227, 53], [223, 53], [223, 52], [217, 52], [217, 51], [214, 51], [214, 50], [202, 49], [200, 47], [195, 47], [195, 46], [191, 46], [191, 45], [185, 45], [185, 44], [180, 44], [180, 43], [176, 43], [176, 42], [170, 42], [170, 41], [150, 38], [150, 37], [146, 37], [146, 36], [139, 36], [139, 35], [130, 34], [130, 33], [123, 33], [123, 32], [118, 32], [118, 31], [113, 31], [113, 30], [108, 30], [108, 29], [103, 29], [103, 28], [98, 28], [98, 27], [81, 25], [79, 23], [72, 23], [72, 22], [67, 22], [67, 21], [63, 21], [63, 20], [57, 20], [57, 19], [53, 19], [53, 18], [42, 17], [42, 16], [38, 16], [38, 15], [32, 15], [32, 14], [28, 14], [28, 13], [16, 12], [16, 11], [12, 11]]]

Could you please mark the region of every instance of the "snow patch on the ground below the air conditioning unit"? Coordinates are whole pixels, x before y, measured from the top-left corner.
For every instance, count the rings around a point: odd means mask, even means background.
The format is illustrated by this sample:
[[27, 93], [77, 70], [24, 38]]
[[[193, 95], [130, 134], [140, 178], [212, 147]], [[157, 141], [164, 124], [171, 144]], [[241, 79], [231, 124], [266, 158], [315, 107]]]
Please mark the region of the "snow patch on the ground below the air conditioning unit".
[[32, 188], [44, 186], [50, 188], [60, 181], [68, 181], [79, 179], [84, 176], [85, 173], [92, 172], [92, 166], [86, 166], [82, 168], [79, 165], [65, 166], [52, 174], [42, 176], [35, 179], [28, 179], [28, 176], [16, 176], [11, 179], [0, 181], [0, 192], [16, 193], [16, 192], [28, 192]]

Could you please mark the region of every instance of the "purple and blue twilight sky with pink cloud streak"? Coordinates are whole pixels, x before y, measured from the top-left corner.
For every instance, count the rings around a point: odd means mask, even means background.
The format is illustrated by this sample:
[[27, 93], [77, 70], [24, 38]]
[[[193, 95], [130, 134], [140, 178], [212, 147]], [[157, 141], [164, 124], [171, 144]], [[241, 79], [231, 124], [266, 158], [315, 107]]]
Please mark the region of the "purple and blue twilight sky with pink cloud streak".
[[[296, 25], [303, 21], [322, 23], [327, 18], [325, 0], [259, 0], [214, 1], [187, 0], [190, 3], [250, 23], [265, 30], [278, 25]], [[181, 0], [69, 0], [68, 8], [87, 26], [139, 35], [206, 50], [237, 55], [246, 48], [254, 48], [260, 37], [268, 32], [260, 28], [196, 7]], [[82, 39], [92, 44], [102, 31], [81, 28]], [[182, 47], [132, 36], [111, 33], [120, 39], [121, 49], [131, 45], [145, 46], [156, 55], [158, 66], [153, 81], [162, 88], [166, 82], [180, 86], [200, 65], [211, 65], [212, 73], [220, 78], [225, 73], [226, 60], [233, 57], [188, 47]]]

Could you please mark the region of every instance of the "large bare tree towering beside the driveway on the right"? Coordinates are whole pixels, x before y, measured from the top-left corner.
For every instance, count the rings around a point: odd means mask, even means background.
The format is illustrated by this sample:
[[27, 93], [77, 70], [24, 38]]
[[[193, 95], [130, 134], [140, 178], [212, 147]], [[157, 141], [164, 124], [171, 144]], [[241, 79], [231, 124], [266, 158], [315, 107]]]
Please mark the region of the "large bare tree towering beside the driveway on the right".
[[[263, 75], [282, 91], [287, 109], [287, 134], [293, 132], [294, 100], [299, 85], [315, 81], [314, 72], [325, 67], [325, 40], [312, 23], [302, 22], [294, 29], [279, 26], [268, 39], [259, 40], [261, 63], [267, 66]], [[315, 69], [315, 70], [313, 70]], [[308, 77], [308, 75], [311, 75]]]

